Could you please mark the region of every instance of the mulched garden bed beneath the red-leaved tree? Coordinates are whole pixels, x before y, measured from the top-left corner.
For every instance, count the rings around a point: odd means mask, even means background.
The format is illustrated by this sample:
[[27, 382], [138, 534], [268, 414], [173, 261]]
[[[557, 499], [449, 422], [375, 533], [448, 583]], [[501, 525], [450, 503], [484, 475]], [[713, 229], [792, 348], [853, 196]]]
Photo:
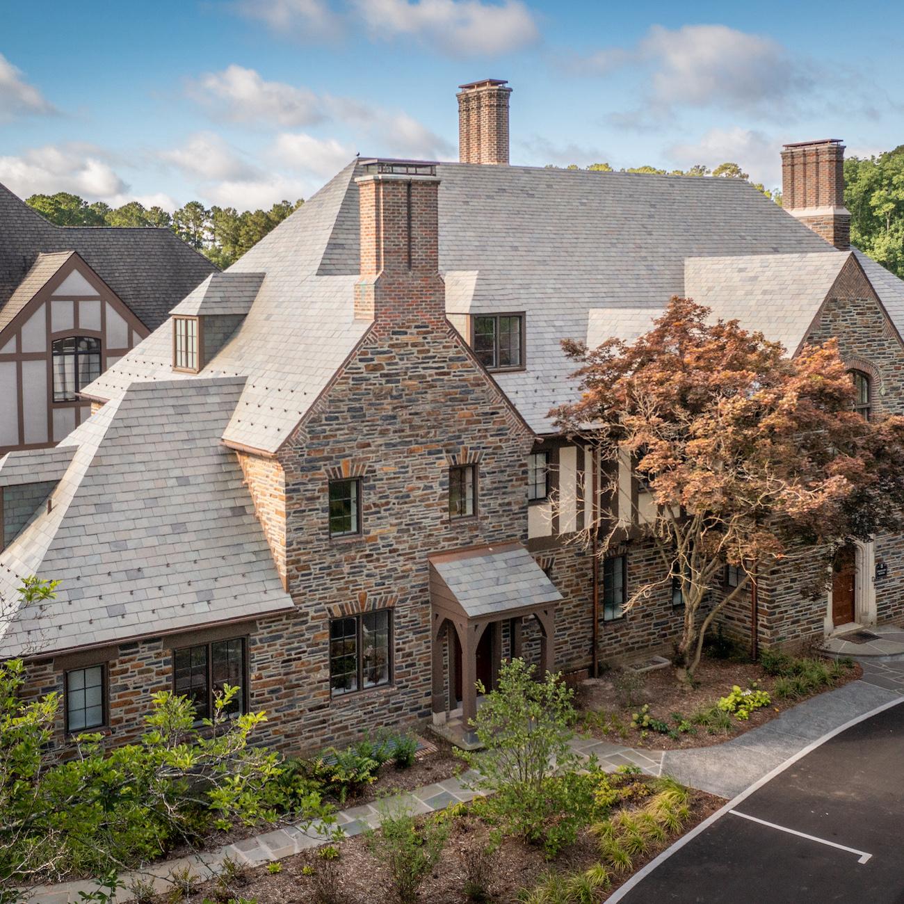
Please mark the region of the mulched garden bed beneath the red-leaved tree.
[[[777, 698], [775, 685], [778, 678], [767, 674], [757, 663], [739, 663], [728, 659], [705, 657], [695, 673], [696, 686], [693, 688], [681, 685], [675, 678], [674, 669], [670, 666], [652, 672], [640, 673], [639, 692], [636, 692], [633, 705], [624, 705], [625, 692], [619, 690], [619, 674], [610, 673], [596, 682], [585, 682], [580, 685], [579, 712], [590, 714], [589, 719], [579, 722], [578, 730], [582, 734], [593, 735], [613, 743], [624, 743], [626, 747], [645, 748], [651, 750], [678, 750], [692, 747], [710, 747], [735, 738], [745, 731], [764, 725], [767, 721], [798, 703], [815, 697], [817, 693], [832, 691], [843, 684], [856, 681], [862, 676], [859, 664], [845, 670], [832, 687], [824, 687], [819, 691], [796, 698]], [[711, 706], [720, 697], [726, 696], [733, 685], [748, 688], [756, 682], [758, 688], [767, 691], [772, 702], [767, 707], [755, 710], [747, 721], [731, 718], [730, 733], [711, 734], [706, 728], [699, 726], [693, 732], [681, 733], [677, 738], [656, 731], [648, 731], [645, 738], [641, 731], [631, 724], [631, 716], [644, 703], [650, 706], [650, 713], [658, 719], [673, 723], [672, 713], [680, 712], [685, 718], [702, 707]], [[593, 713], [600, 715], [594, 716]], [[601, 716], [601, 718], [600, 718]]]

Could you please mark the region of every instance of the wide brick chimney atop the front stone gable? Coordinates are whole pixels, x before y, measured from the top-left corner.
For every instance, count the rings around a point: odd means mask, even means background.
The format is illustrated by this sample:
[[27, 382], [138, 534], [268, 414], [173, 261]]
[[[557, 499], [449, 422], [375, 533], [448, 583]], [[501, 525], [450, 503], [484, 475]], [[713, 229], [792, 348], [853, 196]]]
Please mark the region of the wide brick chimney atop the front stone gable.
[[355, 180], [361, 218], [355, 319], [391, 325], [444, 324], [437, 165], [412, 160], [362, 163], [364, 174]]

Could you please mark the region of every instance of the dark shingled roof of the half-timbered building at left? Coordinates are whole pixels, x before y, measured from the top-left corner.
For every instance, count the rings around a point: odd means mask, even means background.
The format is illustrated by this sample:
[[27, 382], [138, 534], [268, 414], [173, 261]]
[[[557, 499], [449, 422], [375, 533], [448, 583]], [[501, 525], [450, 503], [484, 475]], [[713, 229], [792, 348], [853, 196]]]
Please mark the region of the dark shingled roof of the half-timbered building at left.
[[0, 185], [0, 306], [39, 254], [78, 251], [148, 329], [216, 268], [167, 229], [56, 226]]

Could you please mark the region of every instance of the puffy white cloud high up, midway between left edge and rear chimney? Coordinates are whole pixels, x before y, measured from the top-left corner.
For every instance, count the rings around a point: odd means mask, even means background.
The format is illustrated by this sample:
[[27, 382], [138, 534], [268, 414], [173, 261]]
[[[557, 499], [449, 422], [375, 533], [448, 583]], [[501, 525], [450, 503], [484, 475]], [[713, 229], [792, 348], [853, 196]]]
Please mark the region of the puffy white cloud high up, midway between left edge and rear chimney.
[[282, 81], [266, 81], [258, 71], [232, 64], [207, 72], [190, 93], [215, 116], [234, 122], [263, 121], [283, 127], [309, 126], [324, 118], [322, 101], [314, 91]]

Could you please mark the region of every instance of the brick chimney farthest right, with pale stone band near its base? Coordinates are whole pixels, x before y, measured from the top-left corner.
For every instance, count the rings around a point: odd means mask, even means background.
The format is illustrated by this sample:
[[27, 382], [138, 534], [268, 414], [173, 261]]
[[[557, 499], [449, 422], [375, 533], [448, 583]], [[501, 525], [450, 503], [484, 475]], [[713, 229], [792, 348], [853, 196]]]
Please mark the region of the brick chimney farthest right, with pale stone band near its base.
[[802, 141], [782, 148], [782, 203], [788, 213], [838, 250], [851, 248], [840, 139]]

